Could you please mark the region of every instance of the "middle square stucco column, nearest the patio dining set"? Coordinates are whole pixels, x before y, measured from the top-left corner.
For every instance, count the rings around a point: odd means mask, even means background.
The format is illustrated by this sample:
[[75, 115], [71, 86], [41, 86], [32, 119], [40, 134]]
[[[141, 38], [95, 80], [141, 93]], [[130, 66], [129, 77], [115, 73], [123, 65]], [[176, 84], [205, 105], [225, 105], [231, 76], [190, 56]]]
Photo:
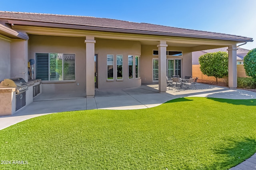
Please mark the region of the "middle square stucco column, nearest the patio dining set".
[[158, 47], [158, 86], [159, 92], [165, 93], [167, 80], [166, 80], [166, 41], [160, 41]]

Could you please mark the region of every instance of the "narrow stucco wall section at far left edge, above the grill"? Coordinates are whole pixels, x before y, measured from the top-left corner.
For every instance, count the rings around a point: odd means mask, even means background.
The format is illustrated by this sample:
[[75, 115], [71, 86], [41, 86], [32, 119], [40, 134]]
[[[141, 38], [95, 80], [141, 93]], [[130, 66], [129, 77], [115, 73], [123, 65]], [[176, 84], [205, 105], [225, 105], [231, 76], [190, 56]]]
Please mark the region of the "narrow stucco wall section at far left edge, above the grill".
[[0, 81], [11, 76], [11, 45], [10, 41], [0, 37]]

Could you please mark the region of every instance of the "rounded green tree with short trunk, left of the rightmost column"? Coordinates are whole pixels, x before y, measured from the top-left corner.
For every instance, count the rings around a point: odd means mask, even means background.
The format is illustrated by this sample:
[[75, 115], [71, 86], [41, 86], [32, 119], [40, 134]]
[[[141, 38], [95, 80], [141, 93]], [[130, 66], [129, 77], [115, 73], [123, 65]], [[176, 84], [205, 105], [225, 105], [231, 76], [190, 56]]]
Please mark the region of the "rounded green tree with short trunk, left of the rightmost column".
[[199, 57], [200, 69], [206, 76], [222, 78], [228, 75], [228, 53], [207, 53]]

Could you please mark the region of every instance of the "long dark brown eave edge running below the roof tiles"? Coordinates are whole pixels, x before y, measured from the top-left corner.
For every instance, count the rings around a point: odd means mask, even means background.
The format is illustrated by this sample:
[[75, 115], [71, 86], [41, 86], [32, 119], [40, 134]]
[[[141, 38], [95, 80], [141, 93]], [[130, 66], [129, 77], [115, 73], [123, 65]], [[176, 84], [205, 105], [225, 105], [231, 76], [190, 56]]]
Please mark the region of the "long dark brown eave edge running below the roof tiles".
[[125, 28], [114, 28], [114, 27], [100, 27], [96, 25], [75, 25], [65, 23], [49, 23], [49, 22], [34, 22], [34, 21], [18, 21], [8, 20], [8, 23], [17, 25], [30, 25], [30, 26], [41, 26], [41, 27], [56, 27], [56, 28], [67, 28], [67, 29], [82, 29], [90, 31], [105, 31], [105, 32], [117, 32], [117, 33], [134, 33], [144, 35], [161, 35], [161, 36], [172, 36], [172, 37], [188, 37], [188, 38], [202, 38], [202, 39], [216, 39], [226, 41], [236, 41], [236, 43], [252, 42], [252, 38], [240, 37], [221, 37], [221, 36], [210, 36], [202, 34], [191, 34], [191, 33], [175, 33], [175, 32], [164, 32], [164, 31], [146, 31], [138, 29], [125, 29]]

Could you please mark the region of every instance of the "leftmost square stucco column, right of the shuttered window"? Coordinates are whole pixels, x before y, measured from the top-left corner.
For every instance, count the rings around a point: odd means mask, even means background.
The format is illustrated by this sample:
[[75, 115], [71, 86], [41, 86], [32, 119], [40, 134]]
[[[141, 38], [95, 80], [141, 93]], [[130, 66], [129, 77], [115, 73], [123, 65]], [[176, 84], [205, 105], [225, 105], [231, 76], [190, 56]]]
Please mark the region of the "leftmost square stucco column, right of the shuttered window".
[[94, 84], [94, 37], [86, 37], [86, 98], [93, 98], [95, 94]]

